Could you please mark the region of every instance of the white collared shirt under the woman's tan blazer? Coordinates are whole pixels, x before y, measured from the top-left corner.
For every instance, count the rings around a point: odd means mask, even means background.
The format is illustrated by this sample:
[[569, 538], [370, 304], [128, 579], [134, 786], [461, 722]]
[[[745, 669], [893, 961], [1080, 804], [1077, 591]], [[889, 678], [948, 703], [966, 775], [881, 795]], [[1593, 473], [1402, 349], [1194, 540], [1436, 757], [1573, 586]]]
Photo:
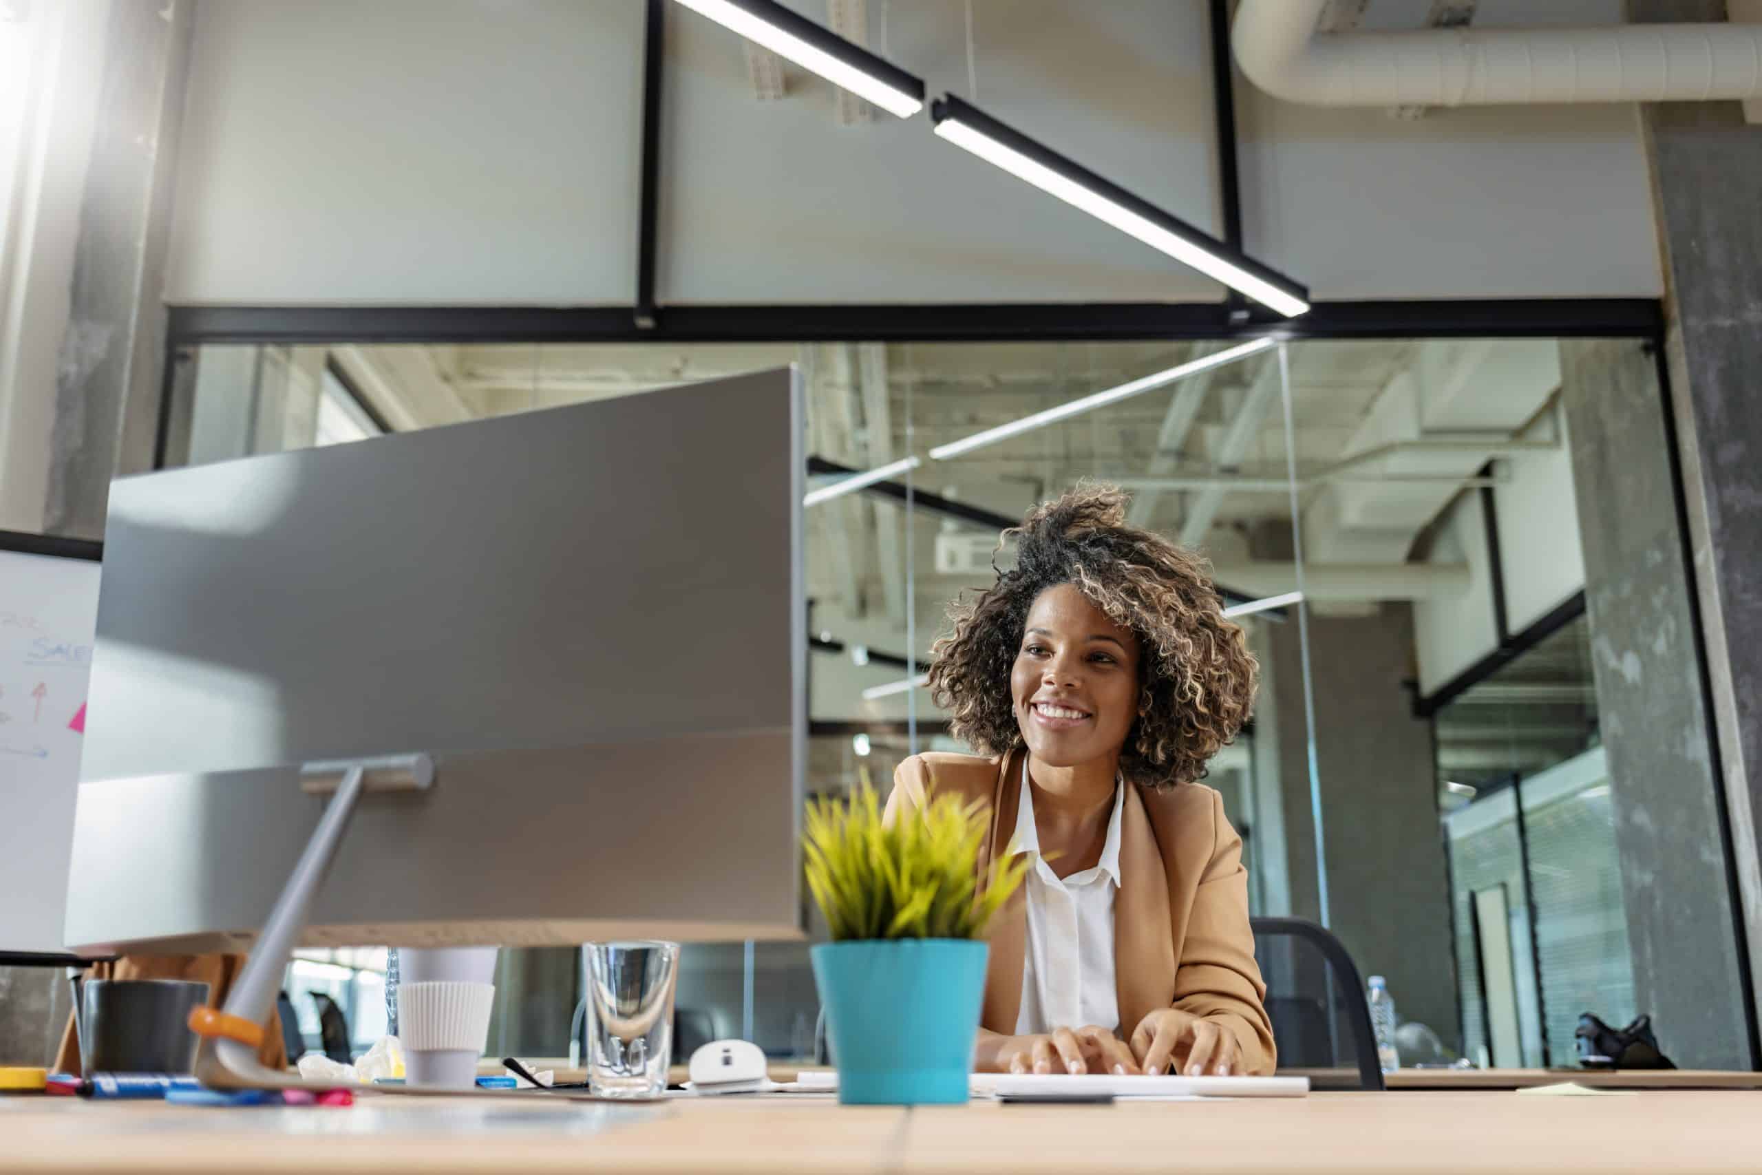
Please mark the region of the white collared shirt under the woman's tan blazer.
[[1022, 953], [1022, 1011], [1017, 1036], [1080, 1029], [1119, 1029], [1114, 990], [1114, 891], [1119, 890], [1119, 816], [1124, 782], [1114, 786], [1114, 814], [1094, 868], [1059, 877], [1040, 854], [1034, 787], [1022, 756], [1022, 800], [1015, 816], [1015, 851], [1033, 863], [1027, 891], [1027, 948]]

